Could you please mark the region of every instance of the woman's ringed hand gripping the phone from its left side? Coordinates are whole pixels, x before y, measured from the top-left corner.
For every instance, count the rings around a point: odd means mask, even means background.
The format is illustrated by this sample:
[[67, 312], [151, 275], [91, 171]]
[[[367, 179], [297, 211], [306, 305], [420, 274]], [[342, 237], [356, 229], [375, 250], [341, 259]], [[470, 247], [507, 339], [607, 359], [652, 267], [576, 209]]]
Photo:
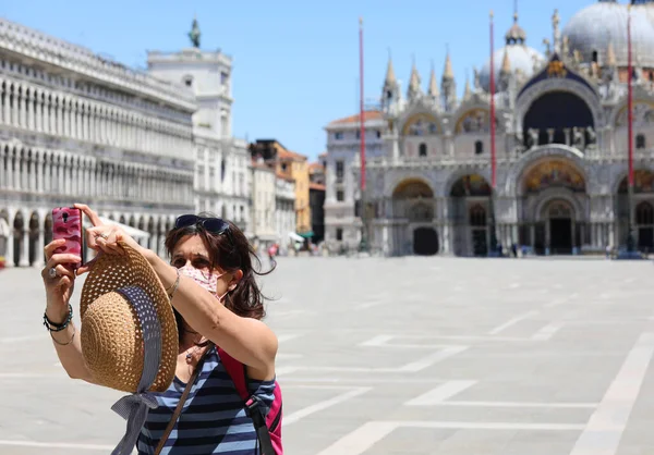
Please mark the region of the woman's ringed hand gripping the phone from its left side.
[[[75, 286], [75, 272], [66, 265], [81, 262], [82, 258], [70, 253], [53, 255], [55, 250], [65, 244], [65, 238], [50, 242], [45, 248], [46, 267], [41, 271], [46, 285], [46, 315], [50, 321], [61, 323], [68, 316], [69, 302]], [[56, 274], [51, 275], [51, 270]]]

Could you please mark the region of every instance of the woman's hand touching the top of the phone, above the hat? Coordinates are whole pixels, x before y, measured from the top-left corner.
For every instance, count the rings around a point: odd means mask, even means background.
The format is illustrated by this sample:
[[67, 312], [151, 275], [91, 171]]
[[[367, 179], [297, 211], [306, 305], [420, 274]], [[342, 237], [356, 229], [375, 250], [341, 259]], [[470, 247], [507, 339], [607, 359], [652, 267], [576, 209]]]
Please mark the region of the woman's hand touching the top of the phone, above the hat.
[[[125, 234], [119, 226], [104, 224], [100, 217], [84, 204], [75, 204], [75, 208], [82, 210], [93, 224], [93, 228], [86, 230], [86, 244], [89, 248], [98, 251], [98, 255], [124, 255], [124, 250], [118, 244], [119, 242], [124, 242], [147, 257], [147, 249], [138, 245], [134, 238]], [[93, 267], [93, 261], [82, 267], [77, 273], [85, 273], [90, 270], [90, 267]]]

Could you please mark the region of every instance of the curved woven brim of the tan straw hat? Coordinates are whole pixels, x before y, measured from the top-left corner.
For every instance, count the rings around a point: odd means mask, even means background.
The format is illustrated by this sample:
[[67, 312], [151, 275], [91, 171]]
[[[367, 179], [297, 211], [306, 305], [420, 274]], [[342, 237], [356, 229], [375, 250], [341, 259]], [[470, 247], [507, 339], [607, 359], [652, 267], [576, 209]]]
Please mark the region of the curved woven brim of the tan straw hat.
[[[90, 269], [82, 288], [80, 317], [84, 320], [87, 308], [107, 293], [125, 286], [143, 288], [152, 299], [161, 325], [161, 361], [155, 381], [148, 390], [165, 392], [174, 378], [179, 355], [179, 334], [172, 306], [164, 284], [147, 259], [124, 242], [119, 242], [119, 245], [125, 250], [124, 256], [102, 254]], [[81, 330], [83, 333], [84, 324]], [[94, 379], [97, 379], [99, 384], [104, 382], [101, 378]]]

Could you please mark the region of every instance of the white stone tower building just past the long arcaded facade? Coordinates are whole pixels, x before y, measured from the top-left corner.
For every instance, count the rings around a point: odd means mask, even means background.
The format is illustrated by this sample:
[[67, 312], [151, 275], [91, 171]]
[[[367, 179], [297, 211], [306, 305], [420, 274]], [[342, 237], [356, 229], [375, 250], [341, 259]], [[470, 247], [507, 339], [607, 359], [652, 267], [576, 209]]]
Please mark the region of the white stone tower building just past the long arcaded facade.
[[195, 207], [232, 220], [252, 237], [247, 143], [231, 136], [232, 59], [198, 48], [148, 52], [149, 74], [195, 95], [193, 114]]

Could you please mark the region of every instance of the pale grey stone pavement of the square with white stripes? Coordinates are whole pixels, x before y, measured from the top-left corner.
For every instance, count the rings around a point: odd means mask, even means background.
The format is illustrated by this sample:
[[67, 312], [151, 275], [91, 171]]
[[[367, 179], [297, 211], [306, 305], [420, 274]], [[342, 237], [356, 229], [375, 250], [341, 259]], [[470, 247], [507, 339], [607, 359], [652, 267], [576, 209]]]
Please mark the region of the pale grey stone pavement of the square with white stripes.
[[[653, 272], [649, 261], [281, 258], [263, 282], [277, 298], [267, 320], [286, 452], [651, 454]], [[0, 454], [109, 453], [121, 393], [58, 366], [37, 271], [0, 271]]]

